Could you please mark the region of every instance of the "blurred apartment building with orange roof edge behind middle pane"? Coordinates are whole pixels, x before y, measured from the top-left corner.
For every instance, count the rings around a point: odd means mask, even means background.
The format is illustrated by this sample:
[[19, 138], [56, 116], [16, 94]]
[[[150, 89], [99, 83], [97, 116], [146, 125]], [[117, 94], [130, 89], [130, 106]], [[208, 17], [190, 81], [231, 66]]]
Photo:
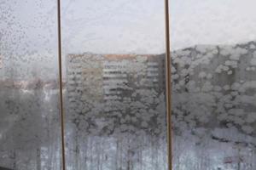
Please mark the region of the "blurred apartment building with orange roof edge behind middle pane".
[[165, 54], [69, 54], [67, 98], [114, 101], [137, 88], [165, 90]]

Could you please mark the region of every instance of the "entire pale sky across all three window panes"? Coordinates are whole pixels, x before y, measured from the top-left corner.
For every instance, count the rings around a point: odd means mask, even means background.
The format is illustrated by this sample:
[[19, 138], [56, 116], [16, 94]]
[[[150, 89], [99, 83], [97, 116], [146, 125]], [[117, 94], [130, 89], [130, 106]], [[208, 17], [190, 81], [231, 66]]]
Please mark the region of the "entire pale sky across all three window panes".
[[[63, 56], [165, 53], [164, 0], [61, 4]], [[256, 40], [255, 7], [255, 0], [170, 0], [171, 50]], [[0, 0], [0, 16], [0, 76], [32, 63], [38, 72], [57, 68], [55, 0]]]

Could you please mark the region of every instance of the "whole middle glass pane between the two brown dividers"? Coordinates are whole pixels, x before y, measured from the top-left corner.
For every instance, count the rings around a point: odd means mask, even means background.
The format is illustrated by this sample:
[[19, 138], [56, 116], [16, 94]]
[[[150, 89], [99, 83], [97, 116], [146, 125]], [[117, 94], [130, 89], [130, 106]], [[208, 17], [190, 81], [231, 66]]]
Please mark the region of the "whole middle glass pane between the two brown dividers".
[[63, 0], [68, 170], [164, 170], [164, 1]]

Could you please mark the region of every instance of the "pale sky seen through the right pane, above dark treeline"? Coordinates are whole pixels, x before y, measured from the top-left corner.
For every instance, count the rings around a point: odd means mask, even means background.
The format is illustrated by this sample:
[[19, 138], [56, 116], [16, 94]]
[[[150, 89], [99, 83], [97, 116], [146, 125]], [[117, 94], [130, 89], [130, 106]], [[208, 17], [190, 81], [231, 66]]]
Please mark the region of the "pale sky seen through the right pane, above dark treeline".
[[172, 49], [256, 40], [255, 0], [170, 0]]

